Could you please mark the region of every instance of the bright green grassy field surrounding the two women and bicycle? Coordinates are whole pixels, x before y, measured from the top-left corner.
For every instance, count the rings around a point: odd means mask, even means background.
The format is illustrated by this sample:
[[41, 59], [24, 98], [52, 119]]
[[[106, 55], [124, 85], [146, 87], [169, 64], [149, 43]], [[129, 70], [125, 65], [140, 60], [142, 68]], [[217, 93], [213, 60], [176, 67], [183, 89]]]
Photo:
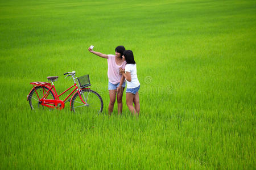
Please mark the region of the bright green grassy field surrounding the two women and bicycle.
[[[0, 169], [255, 169], [255, 1], [0, 1]], [[141, 116], [108, 116], [107, 61], [134, 52]], [[32, 112], [31, 84], [89, 74], [100, 116]]]

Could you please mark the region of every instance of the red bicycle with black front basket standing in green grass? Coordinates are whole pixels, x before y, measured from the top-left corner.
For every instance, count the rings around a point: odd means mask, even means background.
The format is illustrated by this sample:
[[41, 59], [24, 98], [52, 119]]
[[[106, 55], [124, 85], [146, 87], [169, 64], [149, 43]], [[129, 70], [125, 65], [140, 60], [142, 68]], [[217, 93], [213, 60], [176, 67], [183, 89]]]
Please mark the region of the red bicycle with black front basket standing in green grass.
[[[55, 82], [59, 76], [47, 77], [52, 84], [49, 82], [30, 83], [33, 85], [33, 88], [30, 91], [30, 94], [27, 96], [27, 100], [31, 109], [37, 110], [43, 109], [44, 107], [51, 109], [63, 109], [65, 107], [65, 103], [69, 102], [71, 111], [73, 112], [87, 111], [100, 114], [103, 109], [103, 101], [101, 96], [96, 91], [90, 90], [91, 84], [89, 75], [84, 75], [77, 78], [76, 71], [68, 72], [64, 75], [67, 75], [65, 78], [72, 76], [74, 84], [60, 95], [57, 95], [55, 86], [53, 84], [53, 82]], [[78, 82], [79, 86], [77, 86], [76, 81]], [[61, 95], [65, 94], [73, 87], [75, 87], [75, 89], [73, 89], [73, 91], [64, 100], [59, 99]], [[71, 95], [72, 97], [69, 98]]]

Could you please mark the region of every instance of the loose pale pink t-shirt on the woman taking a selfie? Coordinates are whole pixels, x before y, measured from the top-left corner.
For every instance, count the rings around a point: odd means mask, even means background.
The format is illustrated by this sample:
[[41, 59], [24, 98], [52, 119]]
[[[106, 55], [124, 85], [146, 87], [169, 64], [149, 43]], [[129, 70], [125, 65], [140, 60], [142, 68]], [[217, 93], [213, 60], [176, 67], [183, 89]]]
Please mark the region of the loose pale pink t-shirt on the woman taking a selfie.
[[126, 61], [122, 65], [117, 65], [115, 62], [115, 56], [112, 54], [108, 55], [108, 78], [112, 84], [117, 84], [122, 78], [122, 74], [119, 73], [119, 68], [125, 69]]

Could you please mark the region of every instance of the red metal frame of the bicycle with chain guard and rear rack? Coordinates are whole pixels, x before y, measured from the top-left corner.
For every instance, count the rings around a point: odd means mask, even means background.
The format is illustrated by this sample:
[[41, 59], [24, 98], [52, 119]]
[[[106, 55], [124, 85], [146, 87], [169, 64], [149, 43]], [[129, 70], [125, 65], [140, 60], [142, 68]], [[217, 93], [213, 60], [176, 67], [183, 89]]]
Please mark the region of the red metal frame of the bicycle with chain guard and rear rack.
[[[75, 82], [75, 78], [73, 78], [74, 82]], [[38, 84], [39, 83], [39, 84]], [[56, 92], [56, 88], [52, 82], [52, 85], [50, 83], [46, 83], [46, 82], [34, 82], [34, 83], [31, 83], [31, 84], [38, 84], [37, 86], [33, 86], [32, 90], [34, 89], [35, 92], [36, 92], [36, 95], [38, 96], [38, 99], [41, 103], [41, 105], [43, 106], [46, 106], [48, 108], [56, 108], [56, 107], [59, 107], [59, 109], [63, 109], [64, 106], [65, 106], [65, 102], [68, 100], [69, 96], [71, 96], [75, 91], [78, 92], [79, 94], [79, 97], [82, 101], [82, 103], [84, 103], [85, 105], [87, 104], [84, 100], [82, 100], [82, 97], [81, 97], [81, 94], [82, 94], [82, 91], [77, 87], [77, 84], [76, 82], [73, 84], [73, 86], [69, 87], [67, 90], [65, 90], [64, 92], [62, 92], [60, 95], [57, 95], [57, 92]], [[49, 88], [48, 91], [46, 91], [44, 89], [43, 91], [43, 94], [44, 92], [46, 92], [44, 94], [44, 96], [40, 99], [39, 95], [38, 95], [38, 92], [36, 91], [36, 88], [35, 87], [38, 87], [38, 86], [42, 86], [42, 87], [47, 87]], [[60, 100], [59, 97], [63, 94], [65, 94], [67, 91], [71, 90], [71, 88], [75, 87], [75, 89], [64, 99], [64, 100]], [[84, 88], [84, 89], [90, 89], [89, 87], [88, 88]], [[49, 92], [52, 91], [53, 95], [55, 96], [55, 99], [46, 99], [47, 96], [49, 95]], [[75, 93], [76, 94], [76, 93]], [[73, 94], [73, 96], [75, 95]], [[73, 96], [71, 97], [71, 99], [73, 98]], [[70, 104], [71, 106], [71, 104]]]

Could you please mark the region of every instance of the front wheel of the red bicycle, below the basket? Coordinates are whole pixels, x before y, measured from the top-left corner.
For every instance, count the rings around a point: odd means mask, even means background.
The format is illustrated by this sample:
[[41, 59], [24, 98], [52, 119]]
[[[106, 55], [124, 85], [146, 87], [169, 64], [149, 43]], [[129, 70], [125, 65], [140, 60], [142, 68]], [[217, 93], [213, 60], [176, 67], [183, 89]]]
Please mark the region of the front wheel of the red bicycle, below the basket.
[[73, 112], [86, 112], [86, 113], [97, 113], [100, 114], [103, 109], [103, 101], [101, 96], [93, 90], [82, 90], [82, 100], [78, 92], [71, 99], [71, 109]]

